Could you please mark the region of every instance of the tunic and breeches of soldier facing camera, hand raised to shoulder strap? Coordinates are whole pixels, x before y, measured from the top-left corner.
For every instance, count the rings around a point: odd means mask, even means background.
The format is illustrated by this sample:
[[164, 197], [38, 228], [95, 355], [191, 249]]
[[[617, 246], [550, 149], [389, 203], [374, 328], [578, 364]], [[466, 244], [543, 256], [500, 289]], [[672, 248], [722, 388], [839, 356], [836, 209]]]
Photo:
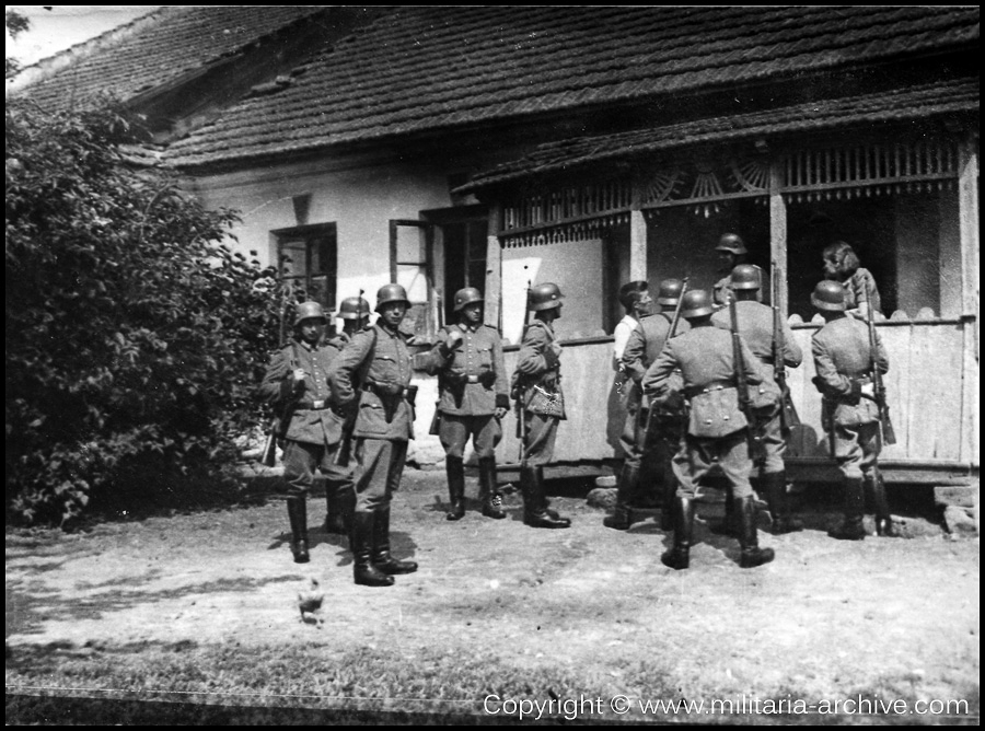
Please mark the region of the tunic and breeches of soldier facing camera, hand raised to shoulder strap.
[[510, 407], [502, 339], [489, 325], [449, 325], [442, 334], [447, 338], [453, 332], [462, 334], [454, 350], [447, 351], [442, 341], [422, 358], [424, 370], [438, 374], [441, 445], [449, 456], [461, 459], [472, 438], [480, 460], [494, 457], [502, 439], [494, 413]]

